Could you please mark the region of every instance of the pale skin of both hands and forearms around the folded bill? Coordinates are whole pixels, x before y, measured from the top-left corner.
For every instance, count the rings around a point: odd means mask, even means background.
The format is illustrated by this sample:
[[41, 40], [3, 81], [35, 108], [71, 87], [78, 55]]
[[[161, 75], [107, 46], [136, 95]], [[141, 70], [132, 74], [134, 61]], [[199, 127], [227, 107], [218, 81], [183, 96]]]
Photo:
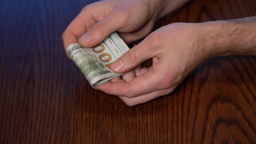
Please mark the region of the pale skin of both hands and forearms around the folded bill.
[[[256, 55], [256, 16], [228, 21], [171, 23], [152, 31], [154, 22], [188, 0], [100, 1], [87, 5], [63, 33], [65, 49], [92, 47], [117, 31], [129, 44], [146, 37], [112, 64], [125, 73], [96, 88], [134, 106], [171, 93], [209, 58]], [[150, 33], [150, 34], [149, 34]], [[150, 68], [139, 65], [153, 59]]]

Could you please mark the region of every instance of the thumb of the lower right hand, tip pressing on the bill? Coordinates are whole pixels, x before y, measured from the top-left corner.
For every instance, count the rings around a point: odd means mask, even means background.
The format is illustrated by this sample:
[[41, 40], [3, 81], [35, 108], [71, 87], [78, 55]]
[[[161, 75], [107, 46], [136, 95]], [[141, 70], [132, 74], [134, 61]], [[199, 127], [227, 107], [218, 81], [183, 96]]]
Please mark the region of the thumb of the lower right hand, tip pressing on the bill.
[[[147, 42], [149, 42], [147, 40]], [[157, 49], [152, 44], [147, 43], [145, 40], [132, 47], [129, 51], [125, 52], [123, 56], [113, 62], [111, 69], [115, 73], [125, 73], [149, 58], [157, 55]]]

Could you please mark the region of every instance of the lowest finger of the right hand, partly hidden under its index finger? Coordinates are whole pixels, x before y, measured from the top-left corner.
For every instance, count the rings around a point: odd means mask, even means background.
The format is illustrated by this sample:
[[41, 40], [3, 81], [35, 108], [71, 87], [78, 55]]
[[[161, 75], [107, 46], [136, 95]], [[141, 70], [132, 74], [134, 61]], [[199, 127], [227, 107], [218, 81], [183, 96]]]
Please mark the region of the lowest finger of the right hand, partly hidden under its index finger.
[[166, 89], [161, 89], [158, 91], [154, 91], [151, 93], [139, 95], [138, 97], [133, 97], [133, 98], [128, 98], [128, 97], [121, 97], [119, 98], [124, 101], [126, 105], [129, 106], [135, 106], [138, 104], [146, 103], [150, 100], [153, 100], [155, 98], [161, 97], [163, 95], [171, 93], [176, 87], [171, 87], [171, 88], [166, 88]]

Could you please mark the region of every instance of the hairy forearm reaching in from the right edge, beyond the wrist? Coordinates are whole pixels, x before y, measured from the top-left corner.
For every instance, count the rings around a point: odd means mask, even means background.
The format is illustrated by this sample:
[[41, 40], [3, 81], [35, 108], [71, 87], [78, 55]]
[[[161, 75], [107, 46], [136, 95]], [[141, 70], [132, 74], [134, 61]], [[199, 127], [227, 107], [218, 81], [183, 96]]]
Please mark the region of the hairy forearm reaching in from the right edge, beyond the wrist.
[[256, 16], [202, 25], [202, 49], [208, 49], [211, 57], [256, 55]]

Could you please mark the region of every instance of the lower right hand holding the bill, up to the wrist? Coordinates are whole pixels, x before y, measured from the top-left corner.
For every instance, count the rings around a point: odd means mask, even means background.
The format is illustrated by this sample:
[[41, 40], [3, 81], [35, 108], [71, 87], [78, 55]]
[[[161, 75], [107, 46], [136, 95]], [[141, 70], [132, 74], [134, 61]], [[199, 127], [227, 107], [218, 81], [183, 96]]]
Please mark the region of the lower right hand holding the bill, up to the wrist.
[[[118, 95], [129, 106], [172, 92], [197, 65], [211, 57], [201, 25], [172, 23], [159, 28], [112, 64], [116, 73], [135, 71], [97, 88]], [[152, 67], [138, 66], [149, 58], [153, 58]]]

